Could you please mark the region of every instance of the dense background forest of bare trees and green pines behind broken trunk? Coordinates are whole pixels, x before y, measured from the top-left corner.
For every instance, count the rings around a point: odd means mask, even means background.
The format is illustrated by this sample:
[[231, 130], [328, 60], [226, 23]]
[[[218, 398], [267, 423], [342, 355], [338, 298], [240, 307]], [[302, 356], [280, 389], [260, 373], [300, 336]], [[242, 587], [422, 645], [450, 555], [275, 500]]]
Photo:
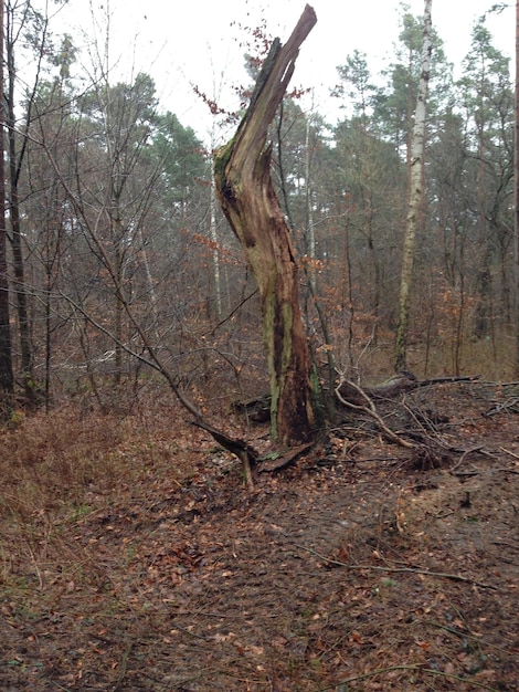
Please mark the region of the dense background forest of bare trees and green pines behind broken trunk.
[[[232, 84], [241, 108], [229, 112], [193, 84], [212, 116], [208, 143], [162, 107], [149, 74], [113, 81], [105, 19], [85, 62], [47, 15], [6, 3], [2, 295], [13, 375], [2, 367], [2, 381], [47, 406], [86, 390], [102, 403], [107, 376], [112, 396], [151, 367], [194, 398], [209, 381], [248, 396], [265, 373], [255, 287], [211, 171], [222, 132], [247, 103], [268, 28], [240, 29], [250, 75], [248, 86]], [[486, 21], [474, 24], [456, 78], [434, 36], [407, 363], [419, 376], [468, 368], [500, 379], [516, 368], [513, 87]], [[400, 23], [380, 74], [360, 51], [337, 66], [338, 122], [303, 108], [311, 95], [303, 85], [272, 127], [314, 359], [324, 365], [332, 353], [356, 380], [393, 365], [423, 40], [421, 18], [404, 6]]]

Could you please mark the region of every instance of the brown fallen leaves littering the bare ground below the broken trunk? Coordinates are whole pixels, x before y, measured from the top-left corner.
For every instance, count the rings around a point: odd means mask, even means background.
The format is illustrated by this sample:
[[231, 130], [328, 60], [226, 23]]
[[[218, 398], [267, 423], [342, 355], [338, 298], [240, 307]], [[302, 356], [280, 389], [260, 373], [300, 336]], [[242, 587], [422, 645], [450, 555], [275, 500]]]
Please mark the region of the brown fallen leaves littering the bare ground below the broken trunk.
[[[510, 449], [496, 419], [478, 433]], [[174, 424], [113, 496], [32, 513], [43, 588], [2, 553], [0, 686], [513, 689], [516, 475], [485, 458], [469, 479], [410, 471], [367, 436], [353, 463], [337, 434], [332, 463], [310, 453], [244, 493], [239, 463]], [[136, 449], [118, 450], [134, 470]], [[485, 522], [466, 521], [465, 489]]]

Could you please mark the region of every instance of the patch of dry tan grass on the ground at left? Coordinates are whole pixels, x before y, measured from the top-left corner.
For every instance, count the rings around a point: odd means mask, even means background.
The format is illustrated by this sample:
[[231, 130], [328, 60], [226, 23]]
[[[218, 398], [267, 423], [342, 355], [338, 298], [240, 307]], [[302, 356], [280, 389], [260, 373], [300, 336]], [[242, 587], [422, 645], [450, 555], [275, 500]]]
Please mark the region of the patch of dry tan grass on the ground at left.
[[[151, 406], [152, 405], [152, 406]], [[172, 463], [178, 410], [166, 396], [126, 415], [66, 405], [18, 415], [0, 431], [0, 575], [3, 587], [45, 590], [96, 575], [70, 527], [119, 502], [144, 502], [153, 484], [192, 473]], [[92, 579], [91, 579], [92, 580]]]

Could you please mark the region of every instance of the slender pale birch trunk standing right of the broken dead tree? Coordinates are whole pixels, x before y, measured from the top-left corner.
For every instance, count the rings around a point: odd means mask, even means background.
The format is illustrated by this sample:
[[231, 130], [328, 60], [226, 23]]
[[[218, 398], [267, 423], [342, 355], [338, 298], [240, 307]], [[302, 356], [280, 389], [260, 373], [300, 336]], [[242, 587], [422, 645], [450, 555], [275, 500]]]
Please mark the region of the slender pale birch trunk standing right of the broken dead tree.
[[420, 207], [423, 200], [423, 169], [424, 169], [424, 141], [425, 141], [425, 113], [427, 102], [428, 77], [431, 72], [432, 43], [432, 0], [425, 0], [424, 8], [424, 41], [422, 49], [422, 73], [420, 75], [419, 93], [416, 98], [416, 114], [414, 117], [413, 139], [411, 145], [410, 168], [410, 198], [407, 219], [404, 235], [404, 250], [402, 259], [402, 274], [400, 281], [399, 303], [399, 328], [395, 345], [395, 369], [403, 370], [407, 361], [407, 335], [411, 285], [414, 268], [414, 247], [416, 240], [416, 227]]

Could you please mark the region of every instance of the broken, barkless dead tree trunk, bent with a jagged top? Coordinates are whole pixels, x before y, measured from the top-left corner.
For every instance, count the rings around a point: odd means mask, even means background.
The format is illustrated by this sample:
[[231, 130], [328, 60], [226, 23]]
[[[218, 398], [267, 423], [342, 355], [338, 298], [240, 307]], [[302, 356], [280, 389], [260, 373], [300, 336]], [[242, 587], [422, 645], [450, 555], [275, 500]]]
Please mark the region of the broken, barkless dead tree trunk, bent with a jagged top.
[[261, 295], [271, 375], [271, 432], [283, 444], [311, 438], [315, 410], [298, 266], [271, 178], [272, 146], [265, 145], [299, 48], [316, 21], [313, 8], [306, 6], [287, 43], [282, 46], [278, 39], [274, 41], [248, 109], [214, 164], [220, 205], [243, 247]]

